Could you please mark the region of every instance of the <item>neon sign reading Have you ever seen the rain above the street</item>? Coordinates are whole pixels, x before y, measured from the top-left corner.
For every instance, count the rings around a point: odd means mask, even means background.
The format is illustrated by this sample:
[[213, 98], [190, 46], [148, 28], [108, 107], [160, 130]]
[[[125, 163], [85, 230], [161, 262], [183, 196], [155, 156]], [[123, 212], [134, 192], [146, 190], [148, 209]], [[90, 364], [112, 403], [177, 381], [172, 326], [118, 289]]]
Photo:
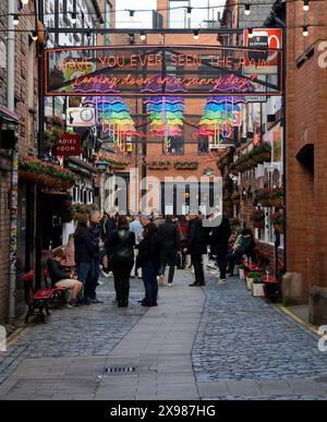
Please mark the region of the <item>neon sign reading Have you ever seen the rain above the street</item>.
[[[121, 97], [280, 95], [281, 51], [268, 48], [267, 59], [249, 59], [250, 55], [256, 53], [263, 55], [263, 49], [223, 46], [47, 49], [45, 94]], [[269, 58], [272, 56], [277, 82], [268, 83], [258, 75], [267, 73], [266, 68], [271, 73]], [[245, 73], [247, 64], [253, 67], [251, 74]]]

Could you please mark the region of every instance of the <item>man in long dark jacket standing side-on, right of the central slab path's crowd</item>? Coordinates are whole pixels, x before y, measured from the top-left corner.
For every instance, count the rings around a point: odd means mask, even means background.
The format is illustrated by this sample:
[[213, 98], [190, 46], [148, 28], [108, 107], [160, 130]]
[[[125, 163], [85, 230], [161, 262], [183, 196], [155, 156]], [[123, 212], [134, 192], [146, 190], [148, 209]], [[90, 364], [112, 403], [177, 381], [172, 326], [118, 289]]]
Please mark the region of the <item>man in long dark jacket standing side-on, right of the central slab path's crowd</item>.
[[205, 286], [202, 255], [207, 253], [206, 231], [198, 215], [190, 215], [187, 253], [194, 268], [195, 281], [190, 286]]

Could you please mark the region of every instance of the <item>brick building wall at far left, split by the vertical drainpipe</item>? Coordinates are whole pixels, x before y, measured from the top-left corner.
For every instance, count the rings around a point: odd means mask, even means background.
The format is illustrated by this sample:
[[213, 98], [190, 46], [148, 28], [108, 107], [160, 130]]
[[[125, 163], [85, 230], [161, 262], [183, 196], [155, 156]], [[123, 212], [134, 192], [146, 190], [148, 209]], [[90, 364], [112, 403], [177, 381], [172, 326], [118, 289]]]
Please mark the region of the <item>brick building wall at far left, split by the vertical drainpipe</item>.
[[[1, 2], [0, 14], [8, 13], [8, 2]], [[15, 33], [15, 71], [14, 71], [14, 103], [15, 113], [19, 117], [16, 125], [19, 154], [37, 155], [37, 62], [36, 43], [32, 39], [32, 32], [35, 31], [34, 9], [32, 4], [25, 5], [21, 10], [20, 23]], [[0, 22], [0, 105], [7, 107], [7, 20]], [[1, 131], [7, 129], [7, 119], [0, 117]], [[1, 133], [3, 138], [3, 132]], [[10, 149], [0, 149], [0, 323], [8, 318], [9, 303], [9, 250], [10, 250], [10, 192], [11, 192], [11, 169]], [[28, 208], [28, 204], [31, 208]], [[27, 254], [27, 245], [34, 242], [34, 215], [35, 196], [34, 192], [26, 191], [26, 185], [19, 188], [19, 214], [17, 214], [17, 280], [15, 290], [15, 313], [20, 313], [20, 308], [24, 302], [24, 289], [22, 274], [25, 269], [24, 260]], [[32, 230], [33, 229], [33, 230]], [[29, 230], [29, 231], [28, 231]], [[31, 248], [31, 254], [33, 254]], [[31, 256], [33, 260], [33, 256]]]

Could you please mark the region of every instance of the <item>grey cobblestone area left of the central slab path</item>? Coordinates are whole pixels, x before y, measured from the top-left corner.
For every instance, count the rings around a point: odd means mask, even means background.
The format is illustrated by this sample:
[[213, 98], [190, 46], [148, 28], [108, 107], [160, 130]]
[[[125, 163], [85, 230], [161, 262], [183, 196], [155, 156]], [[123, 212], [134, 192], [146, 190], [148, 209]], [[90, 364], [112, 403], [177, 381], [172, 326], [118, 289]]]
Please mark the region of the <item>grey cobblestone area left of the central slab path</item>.
[[[145, 314], [137, 300], [143, 299], [143, 281], [131, 280], [130, 306], [117, 308], [113, 280], [102, 278], [97, 289], [100, 304], [78, 309], [53, 310], [47, 323], [31, 323], [0, 354], [0, 384], [26, 358], [106, 355]], [[95, 312], [96, 310], [96, 312]]]

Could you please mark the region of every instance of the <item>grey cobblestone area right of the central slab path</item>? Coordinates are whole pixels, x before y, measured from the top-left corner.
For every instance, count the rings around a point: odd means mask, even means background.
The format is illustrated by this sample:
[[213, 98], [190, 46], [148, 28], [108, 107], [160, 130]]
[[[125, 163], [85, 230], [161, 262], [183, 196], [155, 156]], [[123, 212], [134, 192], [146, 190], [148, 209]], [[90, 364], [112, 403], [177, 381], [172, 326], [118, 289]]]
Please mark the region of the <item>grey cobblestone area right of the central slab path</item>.
[[253, 298], [242, 280], [218, 286], [211, 277], [205, 293], [192, 354], [202, 397], [327, 398], [327, 352], [317, 336]]

